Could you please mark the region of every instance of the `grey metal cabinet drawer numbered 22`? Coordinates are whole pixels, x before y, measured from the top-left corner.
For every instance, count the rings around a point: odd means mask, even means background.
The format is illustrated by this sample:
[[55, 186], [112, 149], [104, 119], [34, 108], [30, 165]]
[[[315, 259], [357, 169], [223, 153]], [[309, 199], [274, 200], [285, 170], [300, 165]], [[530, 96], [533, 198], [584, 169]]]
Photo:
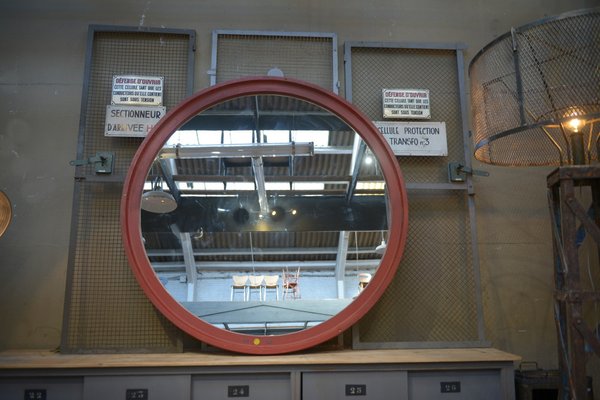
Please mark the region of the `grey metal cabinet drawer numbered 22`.
[[81, 400], [83, 379], [57, 378], [0, 378], [0, 400]]

